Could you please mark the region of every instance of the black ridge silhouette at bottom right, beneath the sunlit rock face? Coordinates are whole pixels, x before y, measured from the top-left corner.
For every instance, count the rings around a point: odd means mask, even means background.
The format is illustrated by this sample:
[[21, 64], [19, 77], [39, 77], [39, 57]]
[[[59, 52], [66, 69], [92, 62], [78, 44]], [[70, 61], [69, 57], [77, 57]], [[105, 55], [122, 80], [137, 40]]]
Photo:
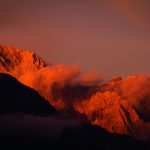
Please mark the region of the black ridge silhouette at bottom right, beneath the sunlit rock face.
[[83, 124], [75, 129], [66, 129], [58, 147], [64, 149], [133, 150], [149, 149], [148, 143], [130, 136], [110, 134], [99, 126]]

